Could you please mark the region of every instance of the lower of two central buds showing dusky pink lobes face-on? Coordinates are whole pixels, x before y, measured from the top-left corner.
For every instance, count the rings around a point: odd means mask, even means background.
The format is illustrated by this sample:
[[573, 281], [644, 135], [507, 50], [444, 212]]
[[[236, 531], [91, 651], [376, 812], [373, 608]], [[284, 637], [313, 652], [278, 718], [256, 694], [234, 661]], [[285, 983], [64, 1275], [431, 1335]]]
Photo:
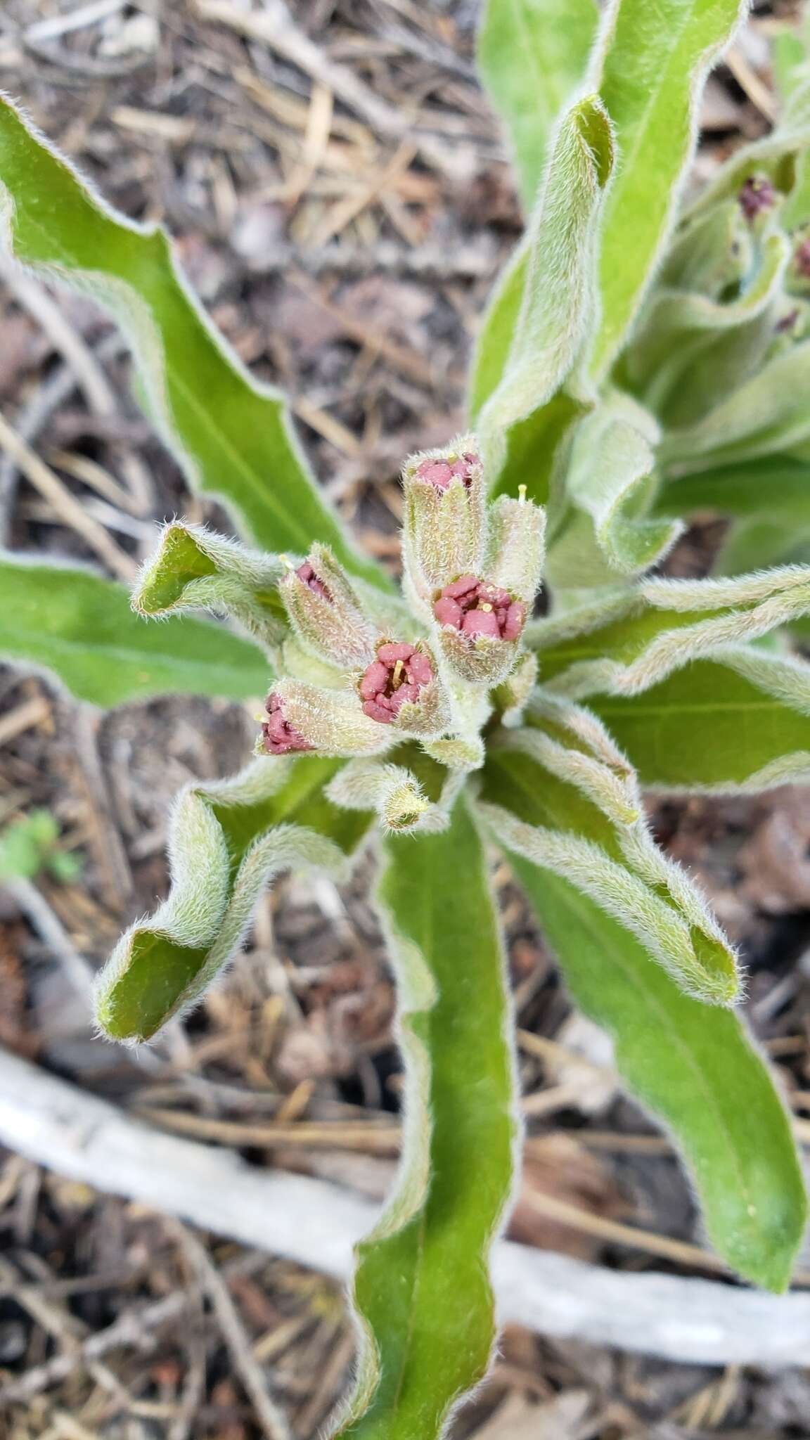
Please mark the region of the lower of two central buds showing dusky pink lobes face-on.
[[357, 688], [363, 714], [378, 724], [428, 736], [441, 734], [450, 723], [432, 657], [419, 645], [382, 641]]

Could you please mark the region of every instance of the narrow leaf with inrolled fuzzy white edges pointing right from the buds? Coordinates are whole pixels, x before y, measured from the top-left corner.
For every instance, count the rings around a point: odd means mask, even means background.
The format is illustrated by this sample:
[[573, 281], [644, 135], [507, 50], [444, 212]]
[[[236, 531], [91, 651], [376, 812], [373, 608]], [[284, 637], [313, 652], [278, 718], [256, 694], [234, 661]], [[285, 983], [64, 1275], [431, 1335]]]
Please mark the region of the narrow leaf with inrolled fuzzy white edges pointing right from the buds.
[[641, 580], [633, 590], [536, 621], [540, 683], [572, 700], [647, 690], [696, 658], [735, 668], [745, 642], [810, 613], [810, 567], [713, 580]]

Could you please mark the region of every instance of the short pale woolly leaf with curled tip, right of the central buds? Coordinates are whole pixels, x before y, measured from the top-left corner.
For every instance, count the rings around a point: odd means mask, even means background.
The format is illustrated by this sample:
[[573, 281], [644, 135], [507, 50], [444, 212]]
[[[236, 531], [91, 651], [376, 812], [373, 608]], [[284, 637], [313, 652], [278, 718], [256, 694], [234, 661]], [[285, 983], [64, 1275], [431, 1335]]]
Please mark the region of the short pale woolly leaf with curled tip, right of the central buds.
[[675, 544], [682, 526], [647, 516], [657, 438], [653, 416], [628, 396], [608, 399], [575, 428], [568, 505], [549, 546], [552, 588], [615, 583], [647, 570]]

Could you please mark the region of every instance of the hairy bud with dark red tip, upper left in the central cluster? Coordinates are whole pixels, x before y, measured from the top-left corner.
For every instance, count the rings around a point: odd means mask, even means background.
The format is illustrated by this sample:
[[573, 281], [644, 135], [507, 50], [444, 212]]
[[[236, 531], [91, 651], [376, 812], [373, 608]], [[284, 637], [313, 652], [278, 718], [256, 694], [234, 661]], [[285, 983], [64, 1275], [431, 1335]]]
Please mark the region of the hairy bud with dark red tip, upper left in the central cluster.
[[323, 544], [313, 546], [281, 582], [287, 613], [301, 642], [329, 664], [359, 668], [373, 655], [375, 626], [337, 560]]

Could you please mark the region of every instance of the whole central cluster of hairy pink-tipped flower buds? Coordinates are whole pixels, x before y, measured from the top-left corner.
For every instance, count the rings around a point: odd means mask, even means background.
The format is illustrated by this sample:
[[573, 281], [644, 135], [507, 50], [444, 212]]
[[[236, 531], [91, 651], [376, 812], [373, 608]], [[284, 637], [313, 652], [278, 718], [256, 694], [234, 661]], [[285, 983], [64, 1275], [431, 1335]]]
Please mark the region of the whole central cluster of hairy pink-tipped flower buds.
[[[467, 766], [516, 668], [540, 583], [543, 513], [487, 501], [473, 439], [405, 467], [404, 598], [349, 579], [313, 546], [278, 583], [290, 622], [259, 747], [376, 756], [418, 739]], [[476, 760], [476, 763], [480, 763]]]

